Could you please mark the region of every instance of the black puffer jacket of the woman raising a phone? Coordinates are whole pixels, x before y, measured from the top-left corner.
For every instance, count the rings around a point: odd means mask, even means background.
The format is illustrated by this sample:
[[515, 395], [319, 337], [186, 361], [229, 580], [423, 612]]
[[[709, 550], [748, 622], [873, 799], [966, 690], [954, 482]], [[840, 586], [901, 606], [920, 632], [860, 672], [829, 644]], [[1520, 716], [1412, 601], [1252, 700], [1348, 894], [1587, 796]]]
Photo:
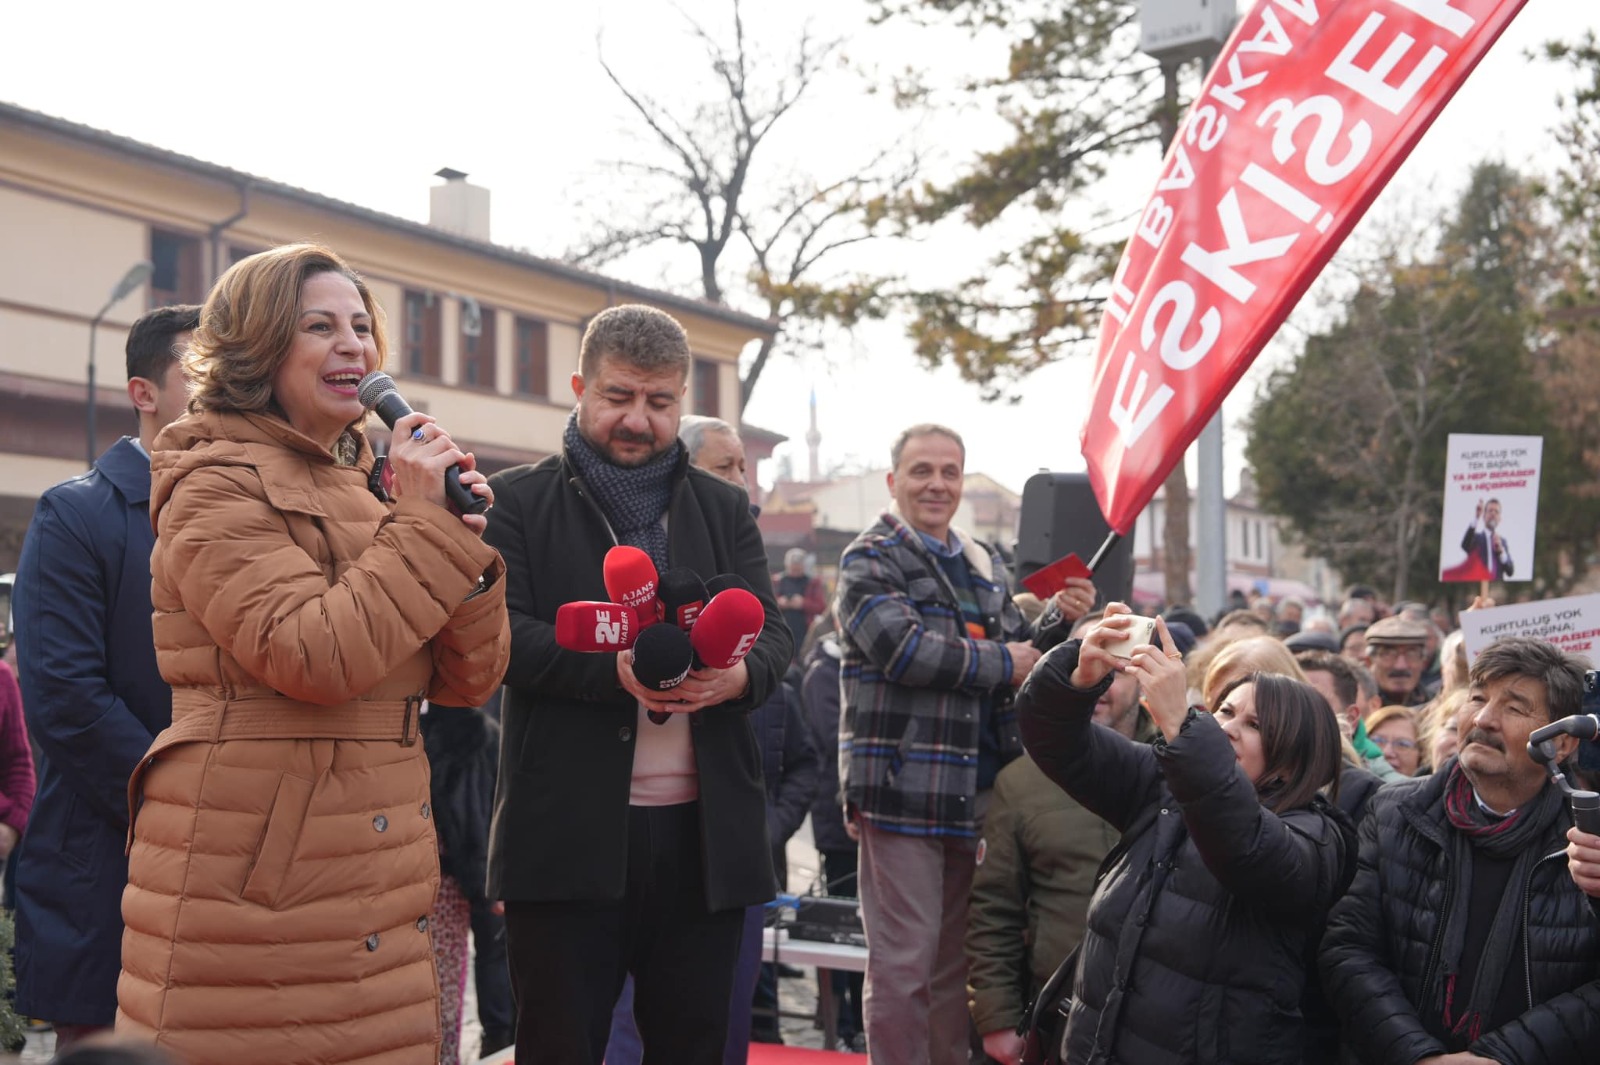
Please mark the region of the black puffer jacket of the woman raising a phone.
[[1064, 1059], [1299, 1065], [1307, 959], [1355, 862], [1349, 820], [1322, 798], [1264, 809], [1206, 715], [1155, 748], [1093, 724], [1109, 678], [1072, 688], [1077, 660], [1077, 641], [1046, 654], [1016, 702], [1040, 768], [1123, 833], [1090, 902]]

